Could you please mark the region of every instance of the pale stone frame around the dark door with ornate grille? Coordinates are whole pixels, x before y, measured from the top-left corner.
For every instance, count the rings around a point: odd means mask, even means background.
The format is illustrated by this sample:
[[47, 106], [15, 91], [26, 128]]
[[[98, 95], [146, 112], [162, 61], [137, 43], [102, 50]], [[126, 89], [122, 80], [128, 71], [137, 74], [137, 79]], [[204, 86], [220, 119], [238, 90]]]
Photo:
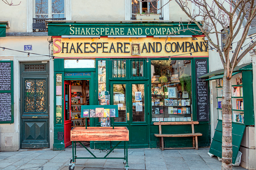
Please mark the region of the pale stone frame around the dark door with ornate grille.
[[[47, 54], [46, 54], [47, 55]], [[50, 135], [50, 148], [53, 147], [53, 128], [54, 128], [54, 113], [53, 113], [53, 104], [54, 103], [54, 72], [53, 72], [53, 61], [49, 57], [38, 57], [38, 55], [15, 55], [13, 56], [13, 96], [14, 97], [14, 131], [19, 133], [20, 138], [20, 64], [19, 62], [35, 62], [35, 61], [49, 61], [49, 132]], [[19, 148], [20, 148], [20, 140], [19, 140]]]

